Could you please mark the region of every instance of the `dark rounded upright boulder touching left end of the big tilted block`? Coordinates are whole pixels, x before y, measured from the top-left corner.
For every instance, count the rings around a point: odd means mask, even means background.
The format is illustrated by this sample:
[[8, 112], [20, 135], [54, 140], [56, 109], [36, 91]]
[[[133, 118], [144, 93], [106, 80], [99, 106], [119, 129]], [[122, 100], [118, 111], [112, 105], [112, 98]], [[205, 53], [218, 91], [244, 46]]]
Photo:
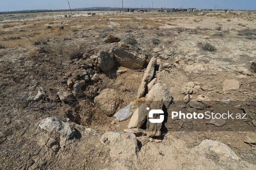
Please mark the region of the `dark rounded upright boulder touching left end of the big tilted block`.
[[109, 71], [114, 66], [113, 57], [107, 51], [100, 51], [98, 53], [99, 67], [102, 71]]

